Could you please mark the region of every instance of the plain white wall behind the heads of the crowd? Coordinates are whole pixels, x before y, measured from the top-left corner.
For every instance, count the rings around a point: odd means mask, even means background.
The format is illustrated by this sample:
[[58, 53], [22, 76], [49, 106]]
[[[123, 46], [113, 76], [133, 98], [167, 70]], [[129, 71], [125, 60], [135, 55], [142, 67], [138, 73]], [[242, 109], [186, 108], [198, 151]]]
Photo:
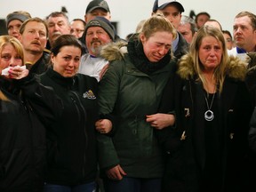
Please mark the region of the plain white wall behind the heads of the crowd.
[[[90, 0], [0, 0], [0, 18], [9, 12], [24, 10], [32, 17], [44, 18], [50, 12], [60, 11], [61, 6], [68, 9], [70, 20], [84, 19], [84, 12]], [[140, 20], [147, 19], [152, 11], [154, 0], [107, 0], [112, 21], [118, 22], [118, 35], [125, 37], [132, 33]], [[179, 0], [185, 8], [183, 14], [209, 12], [212, 19], [219, 20], [223, 29], [232, 32], [233, 20], [238, 12], [249, 11], [256, 14], [254, 0]]]

